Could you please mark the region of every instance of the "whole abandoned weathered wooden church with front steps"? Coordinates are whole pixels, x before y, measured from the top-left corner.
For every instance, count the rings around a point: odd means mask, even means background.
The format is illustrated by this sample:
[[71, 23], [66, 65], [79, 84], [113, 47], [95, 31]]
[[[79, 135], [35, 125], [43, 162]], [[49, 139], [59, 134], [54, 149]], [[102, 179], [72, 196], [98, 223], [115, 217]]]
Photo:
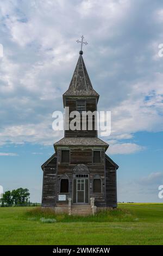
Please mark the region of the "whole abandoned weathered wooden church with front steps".
[[[82, 54], [80, 51], [70, 86], [63, 95], [64, 107], [70, 112], [97, 110], [99, 95], [92, 87]], [[98, 138], [95, 127], [65, 130], [64, 138], [54, 143], [55, 153], [41, 166], [42, 206], [68, 214], [116, 208], [118, 166], [105, 154], [108, 147]]]

